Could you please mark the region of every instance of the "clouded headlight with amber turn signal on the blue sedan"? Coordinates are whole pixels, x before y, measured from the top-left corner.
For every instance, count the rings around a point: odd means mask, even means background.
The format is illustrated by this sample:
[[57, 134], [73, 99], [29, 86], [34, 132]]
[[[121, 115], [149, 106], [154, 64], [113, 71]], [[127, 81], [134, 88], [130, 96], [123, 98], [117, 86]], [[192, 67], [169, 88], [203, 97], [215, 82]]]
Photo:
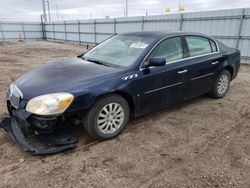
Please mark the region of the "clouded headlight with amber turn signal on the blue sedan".
[[37, 115], [56, 115], [63, 113], [74, 100], [70, 93], [53, 93], [32, 98], [26, 110]]

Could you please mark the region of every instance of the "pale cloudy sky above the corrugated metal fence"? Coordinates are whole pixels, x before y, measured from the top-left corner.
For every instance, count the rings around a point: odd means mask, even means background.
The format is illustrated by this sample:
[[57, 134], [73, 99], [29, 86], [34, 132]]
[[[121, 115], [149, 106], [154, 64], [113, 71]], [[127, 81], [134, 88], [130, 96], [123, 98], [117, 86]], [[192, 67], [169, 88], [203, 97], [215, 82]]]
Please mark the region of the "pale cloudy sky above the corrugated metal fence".
[[[49, 0], [52, 21], [124, 17], [126, 0]], [[180, 0], [184, 12], [246, 8], [250, 0]], [[178, 0], [128, 0], [128, 16], [178, 12]], [[56, 7], [58, 7], [58, 17]], [[171, 12], [166, 13], [165, 9]], [[0, 0], [0, 21], [38, 21], [42, 0]]]

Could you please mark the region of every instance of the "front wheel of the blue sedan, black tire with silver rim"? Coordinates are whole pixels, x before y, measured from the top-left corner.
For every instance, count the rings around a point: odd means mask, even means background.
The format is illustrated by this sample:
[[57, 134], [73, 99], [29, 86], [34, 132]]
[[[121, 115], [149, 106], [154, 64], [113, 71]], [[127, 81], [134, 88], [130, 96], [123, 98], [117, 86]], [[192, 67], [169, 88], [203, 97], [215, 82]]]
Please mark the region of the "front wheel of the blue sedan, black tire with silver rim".
[[127, 101], [120, 95], [111, 94], [102, 97], [92, 106], [84, 118], [84, 129], [94, 139], [111, 139], [122, 132], [129, 117]]

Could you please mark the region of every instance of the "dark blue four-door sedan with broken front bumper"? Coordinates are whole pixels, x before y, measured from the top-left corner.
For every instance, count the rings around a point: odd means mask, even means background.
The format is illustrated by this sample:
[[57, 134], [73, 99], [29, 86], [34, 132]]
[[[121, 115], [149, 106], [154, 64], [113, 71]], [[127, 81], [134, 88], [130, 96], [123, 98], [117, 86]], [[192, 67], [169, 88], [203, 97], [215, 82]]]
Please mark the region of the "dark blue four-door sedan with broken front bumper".
[[81, 124], [91, 137], [110, 139], [131, 116], [207, 93], [224, 97], [239, 67], [239, 50], [206, 35], [120, 34], [78, 57], [18, 77], [10, 85], [9, 117], [1, 126], [25, 150], [55, 153], [74, 147], [75, 141], [60, 138], [53, 148], [37, 149], [27, 135], [56, 135], [66, 124]]

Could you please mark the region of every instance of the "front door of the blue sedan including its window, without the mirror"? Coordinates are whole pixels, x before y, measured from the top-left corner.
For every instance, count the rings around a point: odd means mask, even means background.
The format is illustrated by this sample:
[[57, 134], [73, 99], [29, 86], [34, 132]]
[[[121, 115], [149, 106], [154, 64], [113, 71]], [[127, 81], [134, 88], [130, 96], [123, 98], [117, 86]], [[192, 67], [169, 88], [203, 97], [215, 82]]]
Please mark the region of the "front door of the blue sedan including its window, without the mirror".
[[184, 60], [181, 37], [168, 38], [155, 47], [147, 59], [166, 59], [159, 67], [140, 71], [140, 111], [147, 113], [185, 99], [187, 88], [187, 60]]

